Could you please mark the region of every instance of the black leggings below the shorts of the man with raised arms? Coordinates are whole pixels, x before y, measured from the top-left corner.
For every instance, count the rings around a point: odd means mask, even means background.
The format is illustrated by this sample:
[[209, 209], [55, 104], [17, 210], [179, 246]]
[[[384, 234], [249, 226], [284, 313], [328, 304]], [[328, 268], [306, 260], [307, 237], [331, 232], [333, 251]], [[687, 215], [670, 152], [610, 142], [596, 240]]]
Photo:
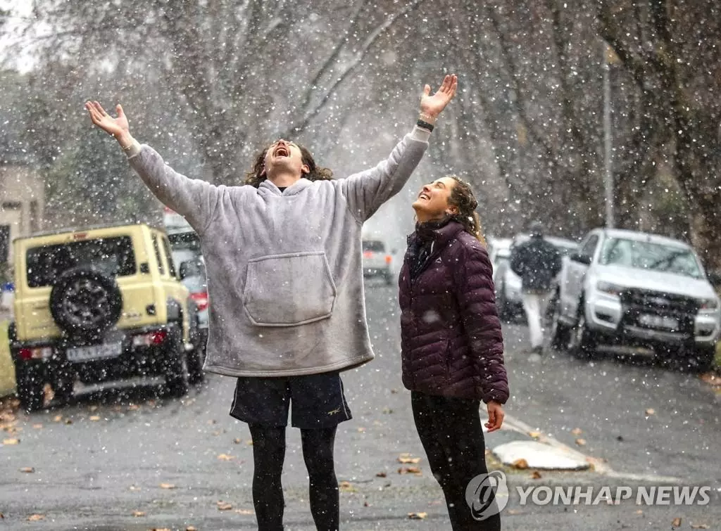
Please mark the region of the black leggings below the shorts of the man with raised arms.
[[[258, 531], [283, 531], [283, 460], [286, 427], [250, 424], [253, 438], [253, 505]], [[337, 427], [301, 429], [303, 458], [310, 478], [311, 514], [319, 531], [337, 531], [338, 480], [333, 463]]]

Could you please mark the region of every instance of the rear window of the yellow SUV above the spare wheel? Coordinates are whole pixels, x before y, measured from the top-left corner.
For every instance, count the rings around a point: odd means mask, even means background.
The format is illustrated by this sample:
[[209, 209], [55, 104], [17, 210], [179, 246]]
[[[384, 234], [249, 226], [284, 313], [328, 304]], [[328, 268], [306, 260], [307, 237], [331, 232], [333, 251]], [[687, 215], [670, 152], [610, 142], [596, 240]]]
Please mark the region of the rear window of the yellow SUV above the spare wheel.
[[135, 252], [130, 236], [74, 241], [27, 249], [27, 285], [53, 285], [72, 267], [93, 266], [113, 277], [134, 275]]

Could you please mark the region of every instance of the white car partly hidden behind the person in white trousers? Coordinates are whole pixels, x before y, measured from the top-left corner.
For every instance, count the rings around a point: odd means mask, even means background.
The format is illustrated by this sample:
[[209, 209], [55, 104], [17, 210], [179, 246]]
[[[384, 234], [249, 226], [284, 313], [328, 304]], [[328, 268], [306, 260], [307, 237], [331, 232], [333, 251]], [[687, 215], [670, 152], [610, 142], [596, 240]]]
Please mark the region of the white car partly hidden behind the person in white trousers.
[[[510, 240], [500, 240], [500, 244], [497, 244], [497, 249], [492, 251], [496, 305], [498, 315], [501, 318], [510, 319], [523, 313], [521, 277], [518, 277], [518, 275], [510, 269], [510, 254], [513, 252], [513, 246], [528, 241], [530, 237], [528, 234], [519, 234]], [[567, 238], [544, 236], [544, 239], [556, 246], [563, 257], [568, 256], [578, 249], [578, 242]]]

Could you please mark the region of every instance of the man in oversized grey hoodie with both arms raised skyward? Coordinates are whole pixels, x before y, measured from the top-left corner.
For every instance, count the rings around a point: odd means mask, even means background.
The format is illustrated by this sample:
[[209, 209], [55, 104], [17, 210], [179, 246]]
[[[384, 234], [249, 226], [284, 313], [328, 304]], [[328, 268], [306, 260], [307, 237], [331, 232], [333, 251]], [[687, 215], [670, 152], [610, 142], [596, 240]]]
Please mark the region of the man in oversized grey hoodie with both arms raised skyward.
[[231, 416], [249, 424], [260, 531], [283, 530], [286, 424], [301, 429], [318, 530], [339, 527], [333, 449], [350, 419], [340, 371], [373, 358], [361, 267], [363, 222], [404, 187], [433, 122], [456, 94], [446, 76], [420, 99], [420, 119], [377, 166], [331, 179], [309, 151], [280, 139], [255, 160], [245, 186], [188, 179], [130, 134], [122, 107], [85, 107], [128, 155], [158, 199], [200, 236], [210, 307], [205, 370], [237, 378]]

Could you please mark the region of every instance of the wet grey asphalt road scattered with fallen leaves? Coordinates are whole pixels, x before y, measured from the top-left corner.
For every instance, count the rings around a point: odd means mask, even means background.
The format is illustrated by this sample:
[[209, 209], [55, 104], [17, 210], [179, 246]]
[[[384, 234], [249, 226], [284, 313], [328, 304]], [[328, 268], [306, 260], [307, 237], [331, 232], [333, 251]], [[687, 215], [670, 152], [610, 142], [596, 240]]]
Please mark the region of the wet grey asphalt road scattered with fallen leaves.
[[[345, 482], [342, 529], [450, 529], [400, 383], [395, 290], [369, 282], [366, 295], [376, 360], [344, 375], [354, 418], [340, 425], [336, 443], [337, 475]], [[588, 363], [551, 353], [531, 363], [522, 352], [525, 326], [511, 323], [504, 330], [513, 394], [508, 414], [606, 460], [620, 476], [544, 472], [533, 479], [522, 470], [509, 475], [512, 492], [539, 484], [655, 485], [658, 476], [721, 486], [721, 395], [699, 378], [646, 360]], [[10, 431], [1, 432], [6, 442], [18, 442], [0, 445], [0, 531], [255, 529], [252, 446], [247, 427], [228, 416], [233, 388], [230, 378], [211, 375], [185, 399], [161, 400], [157, 386], [145, 382], [84, 393], [62, 408], [18, 413], [6, 422]], [[580, 438], [585, 445], [575, 444]], [[487, 445], [507, 439], [505, 431], [490, 434]], [[314, 529], [299, 449], [297, 430], [288, 429], [287, 530]], [[403, 453], [420, 463], [399, 463]], [[420, 475], [399, 473], [409, 466], [418, 466]], [[425, 517], [410, 519], [409, 513]], [[43, 518], [29, 520], [34, 514]], [[718, 494], [704, 507], [521, 507], [512, 495], [503, 522], [508, 530], [657, 530], [671, 529], [679, 517], [682, 529], [718, 529]]]

